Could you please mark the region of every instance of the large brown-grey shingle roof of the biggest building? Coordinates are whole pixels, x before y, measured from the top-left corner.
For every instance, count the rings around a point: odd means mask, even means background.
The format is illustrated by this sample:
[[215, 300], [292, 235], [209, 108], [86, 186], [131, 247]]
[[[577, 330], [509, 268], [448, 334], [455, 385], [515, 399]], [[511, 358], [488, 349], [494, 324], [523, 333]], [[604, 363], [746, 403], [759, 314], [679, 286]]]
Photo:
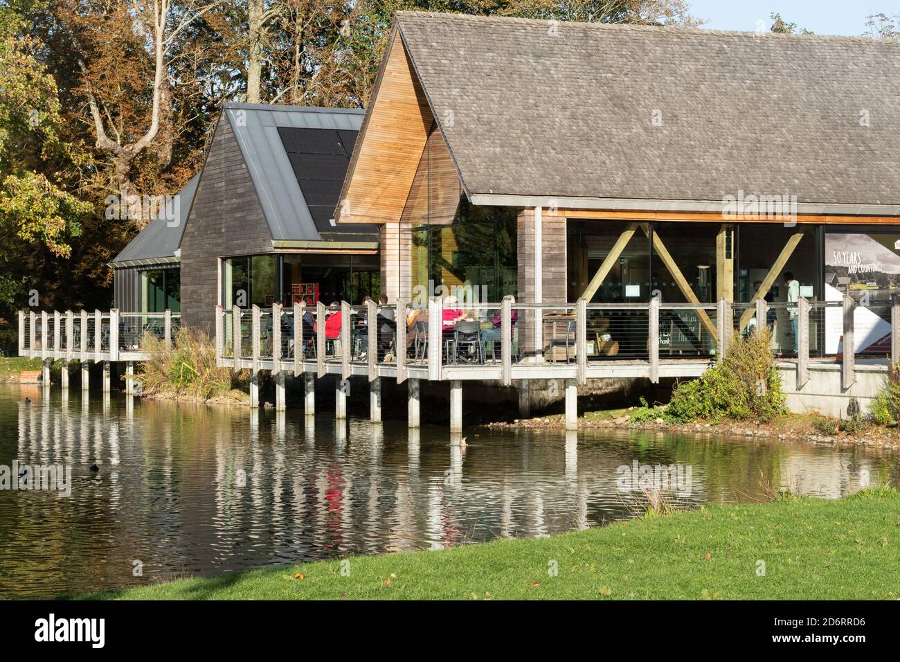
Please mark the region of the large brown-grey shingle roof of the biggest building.
[[410, 12], [397, 25], [470, 194], [900, 203], [900, 41]]

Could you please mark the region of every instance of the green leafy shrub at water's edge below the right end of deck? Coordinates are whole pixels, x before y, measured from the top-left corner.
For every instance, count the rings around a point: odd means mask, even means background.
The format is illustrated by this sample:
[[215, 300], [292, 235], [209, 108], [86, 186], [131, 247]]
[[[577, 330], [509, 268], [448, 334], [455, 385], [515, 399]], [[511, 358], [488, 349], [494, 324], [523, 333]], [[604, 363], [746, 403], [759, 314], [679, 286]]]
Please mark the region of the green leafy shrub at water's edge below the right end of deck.
[[781, 379], [770, 350], [770, 331], [735, 337], [716, 367], [672, 392], [670, 421], [770, 421], [784, 411]]

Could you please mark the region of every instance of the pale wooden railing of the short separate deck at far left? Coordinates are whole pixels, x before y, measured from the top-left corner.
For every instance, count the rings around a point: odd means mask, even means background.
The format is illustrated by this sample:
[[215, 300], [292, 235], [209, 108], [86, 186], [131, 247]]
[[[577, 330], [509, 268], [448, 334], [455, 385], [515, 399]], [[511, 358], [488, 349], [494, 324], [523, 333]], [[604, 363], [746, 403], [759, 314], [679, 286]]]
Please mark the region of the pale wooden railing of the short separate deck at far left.
[[171, 311], [20, 311], [19, 356], [95, 363], [143, 360], [144, 339], [153, 336], [171, 344], [180, 323], [180, 313]]

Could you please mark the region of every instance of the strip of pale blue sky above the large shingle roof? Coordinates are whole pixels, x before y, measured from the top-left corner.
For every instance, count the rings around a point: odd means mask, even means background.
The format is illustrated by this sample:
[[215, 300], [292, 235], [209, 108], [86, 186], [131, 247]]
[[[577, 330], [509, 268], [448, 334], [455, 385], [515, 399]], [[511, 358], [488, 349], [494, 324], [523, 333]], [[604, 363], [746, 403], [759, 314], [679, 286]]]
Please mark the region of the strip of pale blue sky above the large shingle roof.
[[869, 14], [900, 14], [900, 0], [688, 0], [690, 14], [707, 20], [713, 30], [756, 30], [770, 14], [816, 34], [860, 35]]

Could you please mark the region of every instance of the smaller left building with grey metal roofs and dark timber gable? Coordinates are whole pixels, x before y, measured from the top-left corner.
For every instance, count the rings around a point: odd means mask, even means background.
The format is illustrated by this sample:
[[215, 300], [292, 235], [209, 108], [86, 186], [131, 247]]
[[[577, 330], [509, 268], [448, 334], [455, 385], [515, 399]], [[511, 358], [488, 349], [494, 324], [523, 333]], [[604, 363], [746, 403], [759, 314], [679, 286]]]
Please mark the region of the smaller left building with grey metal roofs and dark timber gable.
[[112, 261], [116, 307], [211, 330], [217, 304], [378, 295], [377, 229], [331, 220], [362, 117], [225, 104], [202, 171]]

